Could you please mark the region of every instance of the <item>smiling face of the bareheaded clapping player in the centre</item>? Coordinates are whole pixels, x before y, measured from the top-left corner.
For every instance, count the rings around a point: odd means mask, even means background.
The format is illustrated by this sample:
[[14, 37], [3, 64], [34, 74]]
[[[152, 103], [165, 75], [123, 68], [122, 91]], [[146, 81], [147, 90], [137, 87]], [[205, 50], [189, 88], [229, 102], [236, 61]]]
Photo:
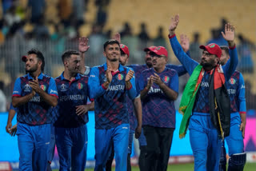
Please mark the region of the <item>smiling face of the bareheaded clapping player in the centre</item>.
[[109, 44], [106, 46], [103, 54], [106, 57], [106, 60], [110, 62], [117, 62], [120, 58], [120, 47], [116, 43]]

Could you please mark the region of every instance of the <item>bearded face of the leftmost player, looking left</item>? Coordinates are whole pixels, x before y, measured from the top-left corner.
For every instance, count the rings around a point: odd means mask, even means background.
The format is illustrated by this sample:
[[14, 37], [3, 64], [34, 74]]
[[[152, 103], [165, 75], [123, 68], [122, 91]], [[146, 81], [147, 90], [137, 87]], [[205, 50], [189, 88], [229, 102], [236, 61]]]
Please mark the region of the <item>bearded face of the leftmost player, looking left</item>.
[[34, 73], [40, 70], [42, 62], [38, 59], [36, 54], [29, 54], [26, 58], [26, 72]]

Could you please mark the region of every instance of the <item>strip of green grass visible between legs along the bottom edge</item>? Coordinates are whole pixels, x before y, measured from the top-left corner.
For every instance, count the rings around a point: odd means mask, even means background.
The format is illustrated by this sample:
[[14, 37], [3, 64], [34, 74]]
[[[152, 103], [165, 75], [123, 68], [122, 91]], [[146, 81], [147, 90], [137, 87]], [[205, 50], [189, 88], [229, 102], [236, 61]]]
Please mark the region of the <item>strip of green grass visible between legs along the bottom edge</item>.
[[[57, 171], [55, 169], [54, 171]], [[93, 171], [94, 169], [86, 169], [86, 171]], [[138, 166], [134, 166], [131, 169], [132, 171], [139, 171]], [[191, 171], [194, 170], [194, 164], [182, 164], [182, 165], [168, 165], [168, 171]], [[256, 163], [246, 163], [244, 171], [255, 171], [256, 170]], [[112, 169], [114, 171], [114, 168]]]

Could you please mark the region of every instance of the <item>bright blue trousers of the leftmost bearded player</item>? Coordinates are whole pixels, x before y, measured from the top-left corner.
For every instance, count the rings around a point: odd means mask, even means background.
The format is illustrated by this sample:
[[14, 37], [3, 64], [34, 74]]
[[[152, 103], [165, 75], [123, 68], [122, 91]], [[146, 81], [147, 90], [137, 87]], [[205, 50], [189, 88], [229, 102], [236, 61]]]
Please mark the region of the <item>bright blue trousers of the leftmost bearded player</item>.
[[47, 169], [50, 146], [50, 124], [27, 125], [18, 123], [19, 170]]

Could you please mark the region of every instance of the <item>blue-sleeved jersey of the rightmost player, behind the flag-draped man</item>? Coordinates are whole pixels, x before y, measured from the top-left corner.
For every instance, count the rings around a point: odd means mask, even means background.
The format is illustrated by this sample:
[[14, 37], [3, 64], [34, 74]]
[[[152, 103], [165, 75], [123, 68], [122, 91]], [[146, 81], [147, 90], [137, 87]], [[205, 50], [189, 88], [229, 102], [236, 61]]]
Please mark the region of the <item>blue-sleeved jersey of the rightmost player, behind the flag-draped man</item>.
[[246, 87], [242, 74], [237, 70], [226, 82], [227, 92], [230, 95], [231, 113], [246, 113]]

